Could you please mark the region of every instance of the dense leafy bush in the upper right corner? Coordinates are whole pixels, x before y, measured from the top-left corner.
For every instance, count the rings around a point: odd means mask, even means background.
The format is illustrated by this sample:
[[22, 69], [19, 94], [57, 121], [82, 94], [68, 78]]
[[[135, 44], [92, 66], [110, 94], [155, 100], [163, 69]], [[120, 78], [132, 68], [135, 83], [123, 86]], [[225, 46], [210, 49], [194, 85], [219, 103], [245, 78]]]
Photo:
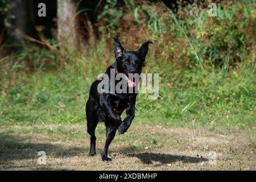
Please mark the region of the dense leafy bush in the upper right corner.
[[[219, 5], [218, 16], [204, 18], [205, 24], [197, 31], [201, 36], [200, 51], [226, 69], [247, 58], [250, 49], [254, 49], [255, 13], [250, 3], [228, 4], [223, 8]], [[207, 12], [202, 16], [207, 16]]]

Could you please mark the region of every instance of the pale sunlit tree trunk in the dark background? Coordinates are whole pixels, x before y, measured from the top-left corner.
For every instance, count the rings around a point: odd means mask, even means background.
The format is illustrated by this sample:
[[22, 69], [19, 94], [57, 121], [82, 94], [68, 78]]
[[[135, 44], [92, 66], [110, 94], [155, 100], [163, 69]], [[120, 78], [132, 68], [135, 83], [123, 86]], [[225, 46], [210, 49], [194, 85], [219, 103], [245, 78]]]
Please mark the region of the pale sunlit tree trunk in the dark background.
[[76, 6], [76, 0], [57, 0], [57, 37], [68, 48], [77, 48]]

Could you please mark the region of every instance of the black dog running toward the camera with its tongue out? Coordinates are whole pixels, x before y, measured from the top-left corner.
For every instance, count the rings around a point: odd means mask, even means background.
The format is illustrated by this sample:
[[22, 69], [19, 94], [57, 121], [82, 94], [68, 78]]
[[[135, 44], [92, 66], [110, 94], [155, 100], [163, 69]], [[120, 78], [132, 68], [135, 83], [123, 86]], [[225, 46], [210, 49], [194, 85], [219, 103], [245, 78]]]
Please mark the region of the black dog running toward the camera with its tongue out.
[[[129, 80], [131, 73], [141, 74], [142, 67], [145, 66], [145, 57], [148, 52], [148, 40], [144, 42], [137, 51], [126, 51], [122, 44], [114, 39], [115, 63], [110, 65], [105, 74], [110, 78], [110, 71], [115, 71], [115, 75], [123, 73], [126, 76], [127, 87], [134, 87], [133, 80]], [[110, 79], [109, 79], [110, 80]], [[98, 85], [102, 80], [96, 80], [90, 87], [89, 99], [86, 102], [87, 131], [90, 134], [90, 152], [89, 155], [96, 155], [96, 137], [95, 129], [98, 121], [105, 121], [106, 125], [106, 143], [104, 151], [101, 154], [102, 160], [111, 160], [108, 158], [109, 144], [115, 137], [118, 129], [119, 134], [124, 134], [130, 127], [134, 119], [135, 102], [137, 93], [100, 93]], [[114, 81], [116, 85], [118, 81]], [[110, 85], [113, 84], [110, 82]], [[104, 90], [109, 88], [104, 88]], [[127, 88], [126, 88], [127, 89]], [[126, 109], [126, 118], [121, 120], [121, 114]]]

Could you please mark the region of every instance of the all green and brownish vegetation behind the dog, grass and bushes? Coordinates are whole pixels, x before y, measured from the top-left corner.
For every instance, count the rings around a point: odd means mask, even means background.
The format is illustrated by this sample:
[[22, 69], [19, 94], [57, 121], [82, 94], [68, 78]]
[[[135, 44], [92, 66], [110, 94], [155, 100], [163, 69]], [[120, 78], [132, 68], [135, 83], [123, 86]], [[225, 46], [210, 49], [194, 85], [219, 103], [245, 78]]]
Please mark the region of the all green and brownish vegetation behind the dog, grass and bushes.
[[[94, 21], [79, 6], [77, 49], [57, 41], [54, 24], [48, 34], [36, 29], [47, 44], [26, 41], [18, 52], [2, 33], [1, 125], [84, 123], [90, 84], [114, 62], [116, 36], [132, 50], [154, 41], [144, 72], [159, 73], [160, 96], [139, 94], [133, 125], [255, 129], [255, 2], [217, 2], [216, 17], [207, 1], [167, 5], [100, 1]], [[5, 2], [0, 15], [9, 8]]]

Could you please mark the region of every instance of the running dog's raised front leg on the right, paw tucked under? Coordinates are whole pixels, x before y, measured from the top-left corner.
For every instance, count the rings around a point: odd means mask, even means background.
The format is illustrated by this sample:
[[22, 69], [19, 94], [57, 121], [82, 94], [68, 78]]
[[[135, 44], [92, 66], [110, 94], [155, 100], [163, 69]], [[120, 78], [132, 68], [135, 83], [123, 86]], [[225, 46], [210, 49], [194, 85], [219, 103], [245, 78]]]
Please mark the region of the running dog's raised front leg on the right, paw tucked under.
[[129, 129], [131, 126], [131, 122], [133, 121], [135, 117], [135, 103], [129, 102], [127, 109], [126, 109], [126, 117], [123, 119], [123, 122], [121, 125], [118, 127], [118, 133], [119, 134], [124, 134], [126, 131]]

